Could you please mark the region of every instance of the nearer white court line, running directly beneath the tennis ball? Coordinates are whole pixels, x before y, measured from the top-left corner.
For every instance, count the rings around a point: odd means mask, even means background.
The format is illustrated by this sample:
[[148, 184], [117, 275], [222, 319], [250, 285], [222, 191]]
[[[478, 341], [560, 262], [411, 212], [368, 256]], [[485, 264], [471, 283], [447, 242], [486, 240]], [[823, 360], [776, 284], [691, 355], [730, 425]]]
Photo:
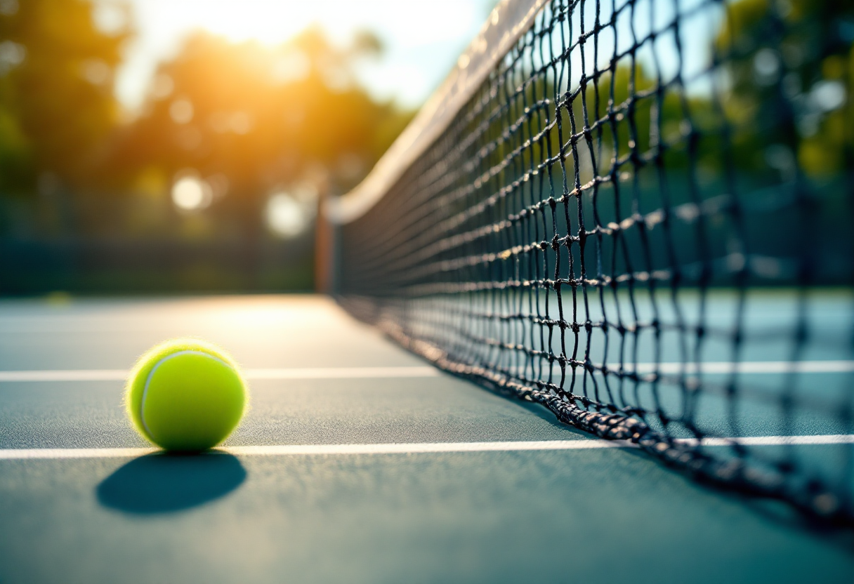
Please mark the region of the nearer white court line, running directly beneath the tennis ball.
[[[696, 444], [693, 440], [679, 440]], [[797, 446], [854, 444], [854, 435], [756, 436], [747, 438], [706, 438], [703, 446], [719, 447], [732, 443], [745, 446]], [[530, 450], [593, 450], [598, 448], [635, 447], [626, 441], [551, 440], [529, 442], [433, 442], [413, 444], [307, 444], [281, 446], [221, 447], [217, 450], [237, 456], [306, 456], [313, 454], [429, 454], [486, 453]], [[135, 458], [159, 452], [156, 448], [7, 448], [0, 449], [0, 460], [38, 458]]]

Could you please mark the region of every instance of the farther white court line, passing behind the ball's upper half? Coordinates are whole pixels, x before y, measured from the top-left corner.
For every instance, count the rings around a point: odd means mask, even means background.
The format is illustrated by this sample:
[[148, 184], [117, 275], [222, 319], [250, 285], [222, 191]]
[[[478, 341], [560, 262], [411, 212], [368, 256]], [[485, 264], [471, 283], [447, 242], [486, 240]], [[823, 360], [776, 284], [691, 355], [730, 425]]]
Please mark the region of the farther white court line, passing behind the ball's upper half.
[[[611, 365], [611, 371], [617, 371], [617, 365]], [[639, 373], [658, 371], [666, 374], [678, 374], [685, 367], [688, 374], [696, 374], [693, 364], [681, 363], [640, 363]], [[731, 373], [733, 364], [721, 361], [700, 365], [703, 373]], [[627, 370], [631, 371], [630, 369]], [[735, 365], [739, 373], [850, 373], [854, 371], [851, 361], [750, 361]], [[430, 366], [414, 367], [311, 367], [290, 369], [246, 369], [247, 379], [381, 379], [384, 377], [437, 377], [441, 371]], [[127, 377], [124, 369], [69, 369], [55, 371], [0, 371], [0, 382], [74, 382], [74, 381], [123, 381]]]

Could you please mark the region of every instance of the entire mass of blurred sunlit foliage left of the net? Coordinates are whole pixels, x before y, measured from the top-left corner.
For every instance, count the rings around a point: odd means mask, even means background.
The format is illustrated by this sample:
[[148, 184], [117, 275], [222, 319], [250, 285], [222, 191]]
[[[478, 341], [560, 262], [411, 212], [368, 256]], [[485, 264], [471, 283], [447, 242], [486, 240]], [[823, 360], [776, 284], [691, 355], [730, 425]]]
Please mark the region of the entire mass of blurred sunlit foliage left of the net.
[[[25, 196], [19, 219], [45, 234], [260, 237], [272, 190], [352, 188], [412, 117], [354, 78], [383, 50], [375, 35], [339, 47], [317, 28], [272, 48], [197, 33], [161, 64], [143, 111], [123, 113], [113, 80], [129, 26], [100, 30], [94, 0], [3, 6], [0, 206]], [[226, 196], [176, 217], [167, 192], [182, 172], [215, 176]]]

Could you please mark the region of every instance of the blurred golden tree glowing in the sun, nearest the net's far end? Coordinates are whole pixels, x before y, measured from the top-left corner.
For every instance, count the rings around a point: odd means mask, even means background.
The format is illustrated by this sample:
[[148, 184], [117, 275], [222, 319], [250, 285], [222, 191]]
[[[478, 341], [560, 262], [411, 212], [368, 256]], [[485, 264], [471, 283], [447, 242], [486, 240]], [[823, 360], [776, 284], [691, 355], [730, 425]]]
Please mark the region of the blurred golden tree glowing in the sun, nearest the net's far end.
[[367, 32], [343, 48], [317, 28], [273, 48], [196, 33], [159, 68], [117, 163], [157, 169], [167, 184], [188, 172], [213, 177], [227, 196], [206, 213], [260, 236], [274, 191], [348, 190], [407, 124], [411, 114], [377, 102], [354, 78], [356, 62], [380, 50]]

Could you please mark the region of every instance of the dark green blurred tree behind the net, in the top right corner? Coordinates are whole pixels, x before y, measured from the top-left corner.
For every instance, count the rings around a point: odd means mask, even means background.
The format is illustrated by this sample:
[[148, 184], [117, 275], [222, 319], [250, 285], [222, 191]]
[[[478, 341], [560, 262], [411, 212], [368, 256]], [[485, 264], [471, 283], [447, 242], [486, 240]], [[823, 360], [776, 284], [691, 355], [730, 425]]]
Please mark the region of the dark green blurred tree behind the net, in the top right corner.
[[724, 107], [740, 166], [845, 169], [854, 149], [854, 3], [740, 0], [728, 6], [716, 50], [731, 59]]

